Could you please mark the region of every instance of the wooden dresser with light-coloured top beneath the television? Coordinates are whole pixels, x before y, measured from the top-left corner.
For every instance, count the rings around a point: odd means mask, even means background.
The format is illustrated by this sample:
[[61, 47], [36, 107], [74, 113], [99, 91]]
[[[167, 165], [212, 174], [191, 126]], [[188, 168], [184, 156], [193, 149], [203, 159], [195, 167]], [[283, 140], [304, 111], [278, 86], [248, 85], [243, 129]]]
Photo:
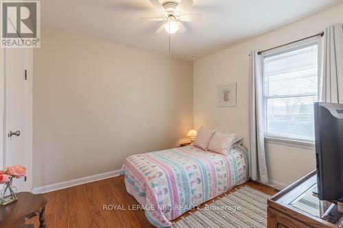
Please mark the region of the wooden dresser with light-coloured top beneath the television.
[[268, 228], [343, 227], [335, 202], [316, 197], [316, 171], [299, 179], [268, 200]]

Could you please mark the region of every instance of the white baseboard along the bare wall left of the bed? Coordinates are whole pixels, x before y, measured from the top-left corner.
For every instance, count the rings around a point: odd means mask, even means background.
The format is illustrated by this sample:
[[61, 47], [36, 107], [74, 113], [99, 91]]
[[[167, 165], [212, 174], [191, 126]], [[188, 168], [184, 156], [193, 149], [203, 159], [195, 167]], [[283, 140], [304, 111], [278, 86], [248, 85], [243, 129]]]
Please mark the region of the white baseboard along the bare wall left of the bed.
[[69, 181], [63, 181], [60, 183], [52, 183], [47, 186], [40, 186], [40, 187], [32, 188], [32, 193], [41, 194], [41, 193], [46, 193], [46, 192], [52, 192], [52, 191], [60, 190], [63, 188], [79, 186], [80, 184], [84, 184], [84, 183], [90, 183], [93, 181], [108, 179], [110, 177], [117, 177], [119, 175], [120, 175], [120, 170], [114, 170], [107, 173], [100, 173], [100, 174], [89, 176], [89, 177], [81, 177], [78, 179], [71, 179]]

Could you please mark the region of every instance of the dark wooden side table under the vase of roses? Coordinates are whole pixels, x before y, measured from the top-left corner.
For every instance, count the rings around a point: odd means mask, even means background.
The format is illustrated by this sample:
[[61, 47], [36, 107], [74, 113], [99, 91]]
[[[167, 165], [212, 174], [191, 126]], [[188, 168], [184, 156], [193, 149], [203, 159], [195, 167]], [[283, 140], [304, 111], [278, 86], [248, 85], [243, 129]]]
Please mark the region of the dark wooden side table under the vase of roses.
[[30, 218], [39, 216], [40, 228], [45, 228], [45, 205], [43, 194], [19, 192], [18, 200], [0, 207], [0, 227], [21, 227]]

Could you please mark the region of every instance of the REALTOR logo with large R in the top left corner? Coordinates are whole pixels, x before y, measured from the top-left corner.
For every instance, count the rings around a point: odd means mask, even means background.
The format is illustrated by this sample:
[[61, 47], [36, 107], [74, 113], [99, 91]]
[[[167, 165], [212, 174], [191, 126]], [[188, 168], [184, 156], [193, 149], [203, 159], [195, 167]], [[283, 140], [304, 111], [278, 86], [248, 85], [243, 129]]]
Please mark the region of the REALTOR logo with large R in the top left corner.
[[1, 47], [40, 47], [39, 1], [1, 1]]

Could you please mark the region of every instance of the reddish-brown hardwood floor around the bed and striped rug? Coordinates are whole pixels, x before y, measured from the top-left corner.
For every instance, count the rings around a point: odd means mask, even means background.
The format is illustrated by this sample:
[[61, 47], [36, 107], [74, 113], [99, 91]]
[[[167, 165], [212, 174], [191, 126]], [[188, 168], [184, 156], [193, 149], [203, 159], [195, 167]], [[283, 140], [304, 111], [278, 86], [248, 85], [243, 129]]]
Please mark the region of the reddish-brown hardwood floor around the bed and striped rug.
[[[271, 195], [277, 192], [274, 188], [255, 181], [248, 181], [242, 186], [250, 186]], [[153, 227], [145, 218], [143, 210], [130, 210], [132, 205], [138, 203], [126, 192], [122, 176], [49, 192], [45, 195], [48, 202], [45, 208], [47, 228]], [[104, 210], [104, 205], [119, 205], [126, 210]], [[111, 209], [110, 207], [108, 206], [108, 209]], [[184, 216], [187, 215], [188, 213]], [[38, 219], [28, 220], [27, 224], [30, 223], [38, 227]]]

